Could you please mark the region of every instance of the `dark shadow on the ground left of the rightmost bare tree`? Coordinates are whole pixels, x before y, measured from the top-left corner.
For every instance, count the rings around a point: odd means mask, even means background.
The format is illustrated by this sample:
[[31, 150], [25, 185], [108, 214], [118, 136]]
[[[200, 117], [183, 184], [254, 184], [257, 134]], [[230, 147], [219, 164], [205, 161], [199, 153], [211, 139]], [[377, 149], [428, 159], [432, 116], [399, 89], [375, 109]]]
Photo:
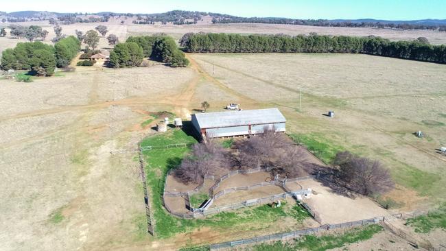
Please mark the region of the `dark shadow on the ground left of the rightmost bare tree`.
[[303, 168], [308, 174], [316, 176], [315, 179], [324, 187], [329, 187], [333, 193], [347, 198], [355, 198], [355, 193], [338, 177], [338, 171], [336, 169], [314, 163], [305, 163]]

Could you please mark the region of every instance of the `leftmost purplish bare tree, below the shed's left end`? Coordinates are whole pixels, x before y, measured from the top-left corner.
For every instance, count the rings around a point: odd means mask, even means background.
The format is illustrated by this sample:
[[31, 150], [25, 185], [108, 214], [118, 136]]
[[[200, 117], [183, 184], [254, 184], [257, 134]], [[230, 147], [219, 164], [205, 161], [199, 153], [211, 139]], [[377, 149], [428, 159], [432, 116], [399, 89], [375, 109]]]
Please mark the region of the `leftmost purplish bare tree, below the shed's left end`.
[[208, 140], [193, 145], [191, 153], [183, 159], [174, 175], [185, 183], [199, 183], [204, 176], [215, 175], [218, 169], [229, 167], [226, 150], [219, 143]]

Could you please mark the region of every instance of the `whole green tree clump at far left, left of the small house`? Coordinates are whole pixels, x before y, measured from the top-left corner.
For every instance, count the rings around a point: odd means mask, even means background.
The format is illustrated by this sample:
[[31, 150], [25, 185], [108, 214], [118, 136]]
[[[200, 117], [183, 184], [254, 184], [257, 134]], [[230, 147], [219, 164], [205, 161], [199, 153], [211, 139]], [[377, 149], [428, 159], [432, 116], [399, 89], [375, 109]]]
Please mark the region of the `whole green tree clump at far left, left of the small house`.
[[62, 38], [54, 46], [40, 41], [18, 43], [14, 49], [5, 49], [1, 56], [4, 70], [27, 70], [34, 75], [50, 76], [57, 67], [67, 67], [80, 51], [80, 41], [74, 36]]

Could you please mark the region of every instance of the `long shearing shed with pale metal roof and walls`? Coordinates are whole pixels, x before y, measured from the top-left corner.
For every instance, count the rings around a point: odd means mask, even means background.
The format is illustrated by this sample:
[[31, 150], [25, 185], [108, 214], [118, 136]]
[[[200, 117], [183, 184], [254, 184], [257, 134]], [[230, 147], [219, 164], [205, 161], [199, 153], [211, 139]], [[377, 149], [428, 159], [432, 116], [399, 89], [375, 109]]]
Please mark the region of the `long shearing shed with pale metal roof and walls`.
[[265, 127], [285, 132], [286, 119], [277, 108], [196, 113], [192, 124], [202, 138], [244, 136], [263, 132]]

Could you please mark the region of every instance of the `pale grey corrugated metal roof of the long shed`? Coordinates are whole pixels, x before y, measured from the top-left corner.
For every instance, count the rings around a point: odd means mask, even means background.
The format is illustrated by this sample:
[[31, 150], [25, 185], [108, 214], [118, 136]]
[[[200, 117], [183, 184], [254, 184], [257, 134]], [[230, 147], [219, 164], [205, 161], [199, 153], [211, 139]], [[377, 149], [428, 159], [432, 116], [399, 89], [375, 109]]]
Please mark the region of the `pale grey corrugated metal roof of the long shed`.
[[200, 128], [220, 128], [237, 125], [259, 125], [286, 121], [277, 108], [260, 110], [234, 110], [194, 114]]

